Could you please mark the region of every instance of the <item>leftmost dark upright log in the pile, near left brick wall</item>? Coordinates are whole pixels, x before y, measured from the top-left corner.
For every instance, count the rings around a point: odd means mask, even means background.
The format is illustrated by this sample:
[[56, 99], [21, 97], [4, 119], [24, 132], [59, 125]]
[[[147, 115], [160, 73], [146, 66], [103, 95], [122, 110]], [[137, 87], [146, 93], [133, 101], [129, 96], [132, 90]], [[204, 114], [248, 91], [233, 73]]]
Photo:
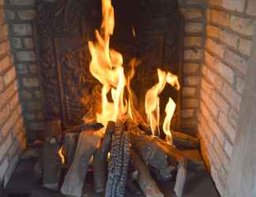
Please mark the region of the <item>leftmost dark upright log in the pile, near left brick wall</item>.
[[61, 132], [60, 120], [46, 122], [46, 132], [43, 144], [43, 187], [58, 190], [61, 168], [58, 165], [58, 136]]

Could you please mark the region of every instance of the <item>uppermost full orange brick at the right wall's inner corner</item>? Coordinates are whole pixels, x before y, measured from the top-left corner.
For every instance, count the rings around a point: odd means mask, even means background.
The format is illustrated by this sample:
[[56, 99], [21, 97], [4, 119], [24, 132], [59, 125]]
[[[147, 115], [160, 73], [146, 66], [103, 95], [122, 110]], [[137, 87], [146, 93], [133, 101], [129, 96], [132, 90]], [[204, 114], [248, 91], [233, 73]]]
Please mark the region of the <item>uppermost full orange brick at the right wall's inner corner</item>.
[[230, 25], [230, 13], [225, 13], [214, 9], [208, 9], [207, 16], [208, 20], [213, 21], [213, 23], [215, 24], [220, 24], [223, 26]]

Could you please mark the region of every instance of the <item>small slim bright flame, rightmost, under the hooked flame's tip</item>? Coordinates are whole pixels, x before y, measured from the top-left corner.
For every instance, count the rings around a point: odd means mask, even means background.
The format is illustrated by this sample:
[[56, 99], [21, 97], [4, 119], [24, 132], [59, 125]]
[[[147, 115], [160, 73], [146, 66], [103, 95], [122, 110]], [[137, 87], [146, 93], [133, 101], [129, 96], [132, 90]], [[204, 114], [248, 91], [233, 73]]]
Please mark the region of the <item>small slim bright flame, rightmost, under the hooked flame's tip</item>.
[[176, 108], [175, 102], [171, 98], [169, 98], [168, 104], [165, 107], [166, 117], [164, 119], [163, 129], [164, 129], [165, 135], [167, 136], [167, 141], [171, 145], [173, 145], [173, 143], [172, 143], [170, 126], [171, 126], [171, 118], [175, 113], [175, 108]]

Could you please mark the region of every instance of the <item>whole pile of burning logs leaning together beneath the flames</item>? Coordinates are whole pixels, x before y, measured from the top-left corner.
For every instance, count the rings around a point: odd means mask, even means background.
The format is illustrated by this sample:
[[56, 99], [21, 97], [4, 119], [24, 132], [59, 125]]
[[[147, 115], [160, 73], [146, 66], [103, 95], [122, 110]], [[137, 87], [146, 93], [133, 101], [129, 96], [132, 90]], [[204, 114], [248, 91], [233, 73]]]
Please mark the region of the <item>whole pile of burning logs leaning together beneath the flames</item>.
[[[110, 121], [107, 127], [79, 125], [64, 131], [59, 127], [59, 121], [49, 123], [51, 131], [47, 132], [43, 146], [43, 185], [58, 190], [61, 169], [66, 168], [61, 186], [64, 195], [82, 195], [91, 166], [96, 196], [122, 197], [128, 188], [135, 193], [142, 191], [147, 197], [163, 197], [157, 179], [175, 180], [175, 194], [181, 197], [189, 165], [202, 165], [177, 148], [199, 147], [198, 139], [181, 132], [173, 132], [173, 147], [152, 136], [145, 125], [136, 125], [131, 120]], [[56, 161], [61, 146], [65, 164]]]

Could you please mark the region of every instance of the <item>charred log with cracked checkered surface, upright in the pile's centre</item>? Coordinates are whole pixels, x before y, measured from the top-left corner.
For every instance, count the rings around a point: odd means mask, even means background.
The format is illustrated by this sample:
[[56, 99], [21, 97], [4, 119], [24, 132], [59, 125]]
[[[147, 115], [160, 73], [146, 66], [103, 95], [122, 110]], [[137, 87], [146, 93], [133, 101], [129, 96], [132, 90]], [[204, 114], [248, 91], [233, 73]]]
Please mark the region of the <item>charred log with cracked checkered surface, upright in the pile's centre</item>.
[[118, 122], [111, 143], [111, 161], [108, 165], [106, 197], [123, 197], [130, 160], [130, 139], [125, 125]]

